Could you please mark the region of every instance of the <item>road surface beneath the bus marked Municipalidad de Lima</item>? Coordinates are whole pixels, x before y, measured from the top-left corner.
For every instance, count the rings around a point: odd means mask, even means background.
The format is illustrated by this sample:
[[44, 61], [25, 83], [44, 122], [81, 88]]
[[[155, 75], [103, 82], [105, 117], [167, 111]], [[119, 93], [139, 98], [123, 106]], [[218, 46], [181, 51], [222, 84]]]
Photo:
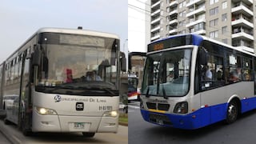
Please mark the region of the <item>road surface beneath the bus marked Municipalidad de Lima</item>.
[[[30, 137], [25, 137], [17, 129], [16, 126], [10, 125], [6, 126], [2, 120], [0, 120], [0, 131], [4, 133], [12, 143], [128, 143], [128, 127], [120, 126], [118, 127], [117, 134], [109, 134], [109, 133], [96, 133], [94, 138], [84, 138], [82, 134], [63, 134], [63, 133], [38, 133], [34, 134]], [[2, 133], [0, 133], [0, 143], [9, 144], [5, 137], [2, 138]]]

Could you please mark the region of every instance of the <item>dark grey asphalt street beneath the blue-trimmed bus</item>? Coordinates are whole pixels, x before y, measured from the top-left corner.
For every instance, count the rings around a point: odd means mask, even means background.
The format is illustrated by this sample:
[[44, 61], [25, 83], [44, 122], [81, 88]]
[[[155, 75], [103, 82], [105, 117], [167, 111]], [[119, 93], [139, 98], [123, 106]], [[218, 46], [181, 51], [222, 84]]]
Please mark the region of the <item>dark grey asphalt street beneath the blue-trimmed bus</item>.
[[142, 119], [139, 102], [129, 104], [129, 138], [130, 144], [141, 143], [207, 143], [207, 144], [241, 144], [256, 141], [256, 110], [242, 114], [236, 122], [226, 125], [218, 122], [198, 130], [178, 130], [151, 124]]

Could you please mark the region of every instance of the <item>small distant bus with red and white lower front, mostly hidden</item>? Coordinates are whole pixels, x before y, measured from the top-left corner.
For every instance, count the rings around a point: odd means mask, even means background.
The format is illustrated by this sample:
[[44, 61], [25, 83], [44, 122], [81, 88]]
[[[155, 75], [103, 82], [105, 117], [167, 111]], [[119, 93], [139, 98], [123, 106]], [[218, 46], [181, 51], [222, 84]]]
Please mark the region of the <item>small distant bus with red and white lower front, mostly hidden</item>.
[[128, 74], [128, 102], [138, 99], [138, 77], [136, 74]]

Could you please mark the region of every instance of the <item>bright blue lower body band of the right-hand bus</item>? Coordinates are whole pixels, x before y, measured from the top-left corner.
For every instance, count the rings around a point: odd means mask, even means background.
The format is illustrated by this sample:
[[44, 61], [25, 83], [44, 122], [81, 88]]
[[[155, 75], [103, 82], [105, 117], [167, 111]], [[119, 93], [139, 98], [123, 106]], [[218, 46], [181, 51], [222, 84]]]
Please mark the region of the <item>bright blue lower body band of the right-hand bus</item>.
[[[194, 111], [191, 114], [180, 115], [180, 114], [161, 114], [142, 110], [142, 117], [145, 121], [150, 122], [150, 114], [157, 114], [166, 116], [170, 119], [171, 125], [169, 124], [158, 124], [161, 126], [172, 126], [179, 129], [198, 129], [203, 126], [208, 126], [215, 122], [220, 122], [226, 119], [226, 110], [228, 103], [223, 103], [215, 106], [208, 106]], [[256, 98], [247, 98], [241, 100], [241, 112], [244, 113], [248, 110], [256, 108]]]

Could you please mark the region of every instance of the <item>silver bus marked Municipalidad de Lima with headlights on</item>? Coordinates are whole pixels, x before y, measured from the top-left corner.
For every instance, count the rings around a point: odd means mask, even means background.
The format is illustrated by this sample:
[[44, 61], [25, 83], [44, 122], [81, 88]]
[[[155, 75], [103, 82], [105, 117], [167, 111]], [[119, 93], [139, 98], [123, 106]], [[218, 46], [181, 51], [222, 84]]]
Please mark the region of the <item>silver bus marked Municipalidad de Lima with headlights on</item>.
[[116, 133], [123, 55], [116, 34], [39, 29], [0, 65], [4, 122], [25, 135]]

